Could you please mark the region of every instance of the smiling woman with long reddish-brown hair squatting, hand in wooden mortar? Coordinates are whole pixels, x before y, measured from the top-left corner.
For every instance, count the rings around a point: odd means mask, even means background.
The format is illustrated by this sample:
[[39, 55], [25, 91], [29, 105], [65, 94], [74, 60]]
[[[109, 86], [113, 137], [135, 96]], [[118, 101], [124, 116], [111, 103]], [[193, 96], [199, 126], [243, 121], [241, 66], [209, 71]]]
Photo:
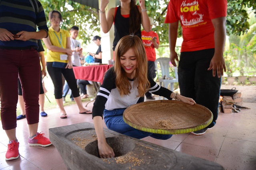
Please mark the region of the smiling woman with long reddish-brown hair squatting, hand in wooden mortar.
[[124, 122], [124, 110], [136, 104], [140, 96], [148, 90], [156, 95], [181, 100], [194, 105], [192, 98], [186, 98], [159, 86], [147, 76], [148, 64], [144, 45], [136, 35], [127, 35], [116, 45], [116, 61], [105, 74], [100, 91], [97, 94], [92, 108], [92, 117], [98, 138], [98, 149], [101, 158], [114, 157], [113, 149], [106, 143], [102, 125], [102, 114], [108, 129], [142, 139], [169, 139], [172, 135], [154, 134], [134, 129]]

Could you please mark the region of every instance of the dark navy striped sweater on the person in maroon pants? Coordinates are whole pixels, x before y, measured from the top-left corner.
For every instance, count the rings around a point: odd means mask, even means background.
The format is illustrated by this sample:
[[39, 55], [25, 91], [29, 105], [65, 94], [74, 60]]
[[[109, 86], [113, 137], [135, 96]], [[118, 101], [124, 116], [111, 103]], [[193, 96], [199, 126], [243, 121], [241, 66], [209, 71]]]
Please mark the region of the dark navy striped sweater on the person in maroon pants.
[[[34, 32], [38, 27], [39, 30], [45, 30], [48, 36], [44, 9], [38, 0], [36, 2], [38, 4], [37, 15], [30, 0], [0, 0], [0, 28], [16, 34], [20, 31]], [[29, 49], [30, 47], [38, 48], [36, 39], [0, 41], [1, 49]]]

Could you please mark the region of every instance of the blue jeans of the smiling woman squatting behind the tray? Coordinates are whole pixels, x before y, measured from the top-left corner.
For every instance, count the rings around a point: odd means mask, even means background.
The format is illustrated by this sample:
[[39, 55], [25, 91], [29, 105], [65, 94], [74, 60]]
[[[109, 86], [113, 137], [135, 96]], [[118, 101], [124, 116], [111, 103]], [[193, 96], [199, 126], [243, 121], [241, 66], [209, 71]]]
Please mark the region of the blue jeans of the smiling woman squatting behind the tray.
[[161, 135], [134, 129], [133, 127], [129, 126], [124, 122], [123, 113], [125, 109], [126, 108], [114, 110], [104, 109], [104, 120], [108, 129], [137, 139], [142, 139], [144, 137], [150, 136], [155, 139], [166, 140], [172, 137], [172, 135]]

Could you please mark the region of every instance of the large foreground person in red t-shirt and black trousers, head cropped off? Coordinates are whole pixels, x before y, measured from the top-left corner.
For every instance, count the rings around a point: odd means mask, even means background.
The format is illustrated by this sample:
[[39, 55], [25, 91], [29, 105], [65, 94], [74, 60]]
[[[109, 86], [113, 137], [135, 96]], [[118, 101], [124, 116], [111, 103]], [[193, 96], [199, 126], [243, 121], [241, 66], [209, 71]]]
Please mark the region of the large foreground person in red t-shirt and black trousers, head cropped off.
[[203, 135], [218, 117], [221, 76], [226, 71], [223, 57], [226, 12], [227, 0], [170, 0], [168, 4], [165, 23], [169, 23], [170, 61], [174, 66], [175, 60], [178, 61], [175, 52], [178, 21], [182, 26], [180, 93], [213, 113], [212, 123], [192, 132], [194, 135]]

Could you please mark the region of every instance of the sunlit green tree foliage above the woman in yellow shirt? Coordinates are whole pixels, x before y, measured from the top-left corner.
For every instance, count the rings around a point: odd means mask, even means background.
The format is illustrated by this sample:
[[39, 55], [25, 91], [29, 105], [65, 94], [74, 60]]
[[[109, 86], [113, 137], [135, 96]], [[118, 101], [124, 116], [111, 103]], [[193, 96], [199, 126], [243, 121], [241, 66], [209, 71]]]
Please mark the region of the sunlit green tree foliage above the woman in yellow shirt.
[[58, 10], [63, 18], [62, 29], [69, 30], [73, 25], [77, 25], [80, 29], [78, 36], [84, 41], [83, 43], [89, 43], [92, 40], [91, 37], [100, 31], [99, 12], [95, 8], [70, 0], [40, 0], [40, 2], [44, 7], [47, 20], [50, 11]]

